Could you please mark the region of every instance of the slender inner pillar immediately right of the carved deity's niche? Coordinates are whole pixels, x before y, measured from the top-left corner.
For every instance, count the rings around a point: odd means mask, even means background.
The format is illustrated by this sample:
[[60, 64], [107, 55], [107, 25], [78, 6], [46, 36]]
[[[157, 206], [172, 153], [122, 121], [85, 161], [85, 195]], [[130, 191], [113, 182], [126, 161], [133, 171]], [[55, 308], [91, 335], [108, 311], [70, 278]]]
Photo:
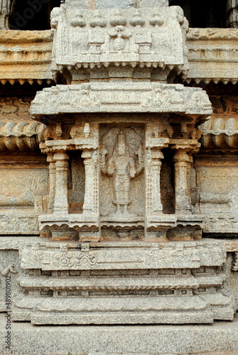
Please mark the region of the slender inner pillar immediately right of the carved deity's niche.
[[162, 213], [163, 211], [163, 205], [161, 204], [161, 159], [163, 159], [163, 153], [160, 149], [151, 150], [151, 213]]

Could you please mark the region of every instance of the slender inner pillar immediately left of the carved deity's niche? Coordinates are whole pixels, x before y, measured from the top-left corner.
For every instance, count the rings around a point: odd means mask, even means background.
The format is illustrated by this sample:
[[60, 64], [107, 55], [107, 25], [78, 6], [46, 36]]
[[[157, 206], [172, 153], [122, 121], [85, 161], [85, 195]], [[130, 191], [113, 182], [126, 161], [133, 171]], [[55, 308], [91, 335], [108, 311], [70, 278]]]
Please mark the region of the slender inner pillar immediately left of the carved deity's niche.
[[84, 214], [98, 214], [99, 171], [97, 151], [85, 149], [82, 158], [85, 159], [85, 202], [83, 211]]

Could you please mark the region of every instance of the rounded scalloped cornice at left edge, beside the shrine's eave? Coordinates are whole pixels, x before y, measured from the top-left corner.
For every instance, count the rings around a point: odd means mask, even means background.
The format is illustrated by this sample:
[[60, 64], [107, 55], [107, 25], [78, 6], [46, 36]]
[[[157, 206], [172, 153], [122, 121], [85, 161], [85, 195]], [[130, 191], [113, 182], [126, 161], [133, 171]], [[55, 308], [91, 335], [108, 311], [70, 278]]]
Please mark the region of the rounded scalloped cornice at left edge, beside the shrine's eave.
[[38, 122], [0, 122], [0, 151], [38, 151], [38, 134], [44, 128]]

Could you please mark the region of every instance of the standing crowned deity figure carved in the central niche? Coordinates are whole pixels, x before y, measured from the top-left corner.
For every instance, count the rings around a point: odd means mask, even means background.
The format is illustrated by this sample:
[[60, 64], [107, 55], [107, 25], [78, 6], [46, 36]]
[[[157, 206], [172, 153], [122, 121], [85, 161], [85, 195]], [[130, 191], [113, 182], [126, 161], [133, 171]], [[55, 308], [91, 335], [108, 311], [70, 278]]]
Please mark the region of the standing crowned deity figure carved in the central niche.
[[[136, 154], [131, 155], [129, 146], [126, 142], [126, 136], [121, 130], [117, 134], [117, 143], [114, 146], [112, 155], [105, 161], [107, 149], [101, 147], [101, 170], [105, 175], [113, 178], [114, 199], [116, 205], [114, 214], [129, 214], [130, 186], [131, 179], [139, 175], [143, 169], [142, 160], [144, 160], [142, 148], [140, 147]], [[139, 156], [139, 164], [136, 164], [136, 155]]]

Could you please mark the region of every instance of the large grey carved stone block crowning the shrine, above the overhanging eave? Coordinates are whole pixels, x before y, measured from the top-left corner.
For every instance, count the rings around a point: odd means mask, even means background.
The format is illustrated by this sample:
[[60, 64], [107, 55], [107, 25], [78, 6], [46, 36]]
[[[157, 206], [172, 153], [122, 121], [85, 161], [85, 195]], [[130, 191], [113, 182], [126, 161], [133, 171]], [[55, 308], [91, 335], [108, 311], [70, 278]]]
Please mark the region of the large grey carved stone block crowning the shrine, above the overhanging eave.
[[156, 80], [161, 73], [167, 79], [172, 71], [173, 77], [188, 70], [188, 23], [178, 6], [155, 8], [152, 13], [146, 8], [75, 12], [65, 6], [53, 10], [51, 23], [54, 72], [66, 75], [67, 81], [79, 82], [91, 72], [99, 80], [98, 67], [107, 69], [108, 80], [117, 80], [119, 72], [132, 80], [131, 68], [137, 67], [150, 67]]

